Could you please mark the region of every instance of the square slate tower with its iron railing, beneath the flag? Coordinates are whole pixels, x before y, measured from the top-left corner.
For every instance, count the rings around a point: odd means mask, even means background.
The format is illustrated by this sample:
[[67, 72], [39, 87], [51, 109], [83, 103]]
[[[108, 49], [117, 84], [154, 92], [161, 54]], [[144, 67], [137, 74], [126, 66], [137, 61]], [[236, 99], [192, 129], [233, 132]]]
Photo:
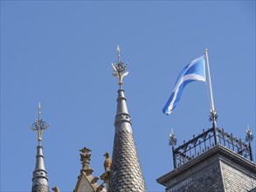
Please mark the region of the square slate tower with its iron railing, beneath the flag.
[[224, 129], [212, 127], [175, 149], [176, 138], [172, 133], [174, 169], [156, 181], [166, 187], [166, 192], [256, 191], [252, 140], [249, 128], [243, 142]]

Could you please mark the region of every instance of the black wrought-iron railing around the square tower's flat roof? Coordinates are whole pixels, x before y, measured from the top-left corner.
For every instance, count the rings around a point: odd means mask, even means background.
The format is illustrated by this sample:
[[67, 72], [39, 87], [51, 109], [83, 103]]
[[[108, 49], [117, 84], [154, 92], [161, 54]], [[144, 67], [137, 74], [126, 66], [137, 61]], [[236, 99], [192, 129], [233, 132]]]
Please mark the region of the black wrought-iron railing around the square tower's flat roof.
[[176, 145], [176, 138], [174, 134], [170, 134], [170, 145], [173, 147], [174, 168], [183, 165], [187, 161], [190, 161], [217, 145], [227, 147], [233, 152], [242, 155], [247, 160], [253, 161], [251, 147], [252, 140], [253, 134], [250, 129], [246, 130], [246, 141], [249, 141], [249, 144], [247, 145], [241, 139], [234, 137], [232, 134], [226, 133], [224, 129], [212, 127], [207, 131], [203, 130], [202, 134], [198, 134], [197, 136], [193, 135], [192, 140], [184, 142], [183, 145], [174, 148], [173, 143]]

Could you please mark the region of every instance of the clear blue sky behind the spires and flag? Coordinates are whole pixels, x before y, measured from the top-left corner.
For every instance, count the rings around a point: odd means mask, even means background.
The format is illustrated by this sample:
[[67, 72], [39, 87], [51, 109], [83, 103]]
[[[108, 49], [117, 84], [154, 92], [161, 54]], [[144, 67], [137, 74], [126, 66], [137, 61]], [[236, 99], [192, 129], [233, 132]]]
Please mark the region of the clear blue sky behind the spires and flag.
[[[149, 191], [172, 170], [169, 144], [211, 127], [203, 82], [187, 86], [174, 113], [162, 108], [179, 72], [209, 50], [218, 127], [245, 139], [255, 129], [255, 1], [1, 1], [1, 191], [30, 191], [38, 116], [49, 185], [73, 191], [80, 148], [92, 149], [93, 175], [112, 154], [116, 46], [135, 143]], [[253, 141], [254, 159], [256, 146]]]

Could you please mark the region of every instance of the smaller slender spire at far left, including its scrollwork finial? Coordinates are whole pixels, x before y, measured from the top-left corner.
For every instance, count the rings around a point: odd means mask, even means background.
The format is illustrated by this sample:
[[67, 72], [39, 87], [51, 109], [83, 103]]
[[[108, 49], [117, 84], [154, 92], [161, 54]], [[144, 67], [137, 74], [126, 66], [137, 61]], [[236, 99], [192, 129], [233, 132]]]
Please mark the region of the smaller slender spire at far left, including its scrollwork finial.
[[42, 141], [42, 134], [49, 125], [40, 120], [40, 103], [38, 104], [38, 120], [35, 122], [31, 128], [32, 131], [38, 132], [38, 147], [37, 147], [37, 161], [36, 167], [33, 171], [33, 178], [32, 178], [32, 192], [49, 192], [48, 186], [48, 177], [47, 172], [45, 170], [45, 162], [44, 162], [44, 154], [43, 154], [43, 147], [41, 145]]

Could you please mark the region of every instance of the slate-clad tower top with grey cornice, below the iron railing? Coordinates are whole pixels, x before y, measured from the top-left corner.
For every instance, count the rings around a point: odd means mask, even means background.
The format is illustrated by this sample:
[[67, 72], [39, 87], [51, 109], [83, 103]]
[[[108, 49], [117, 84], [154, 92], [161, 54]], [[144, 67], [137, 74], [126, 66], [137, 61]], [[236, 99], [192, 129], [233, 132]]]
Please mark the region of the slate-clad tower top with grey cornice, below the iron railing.
[[166, 192], [247, 192], [256, 187], [256, 165], [218, 145], [157, 179]]

